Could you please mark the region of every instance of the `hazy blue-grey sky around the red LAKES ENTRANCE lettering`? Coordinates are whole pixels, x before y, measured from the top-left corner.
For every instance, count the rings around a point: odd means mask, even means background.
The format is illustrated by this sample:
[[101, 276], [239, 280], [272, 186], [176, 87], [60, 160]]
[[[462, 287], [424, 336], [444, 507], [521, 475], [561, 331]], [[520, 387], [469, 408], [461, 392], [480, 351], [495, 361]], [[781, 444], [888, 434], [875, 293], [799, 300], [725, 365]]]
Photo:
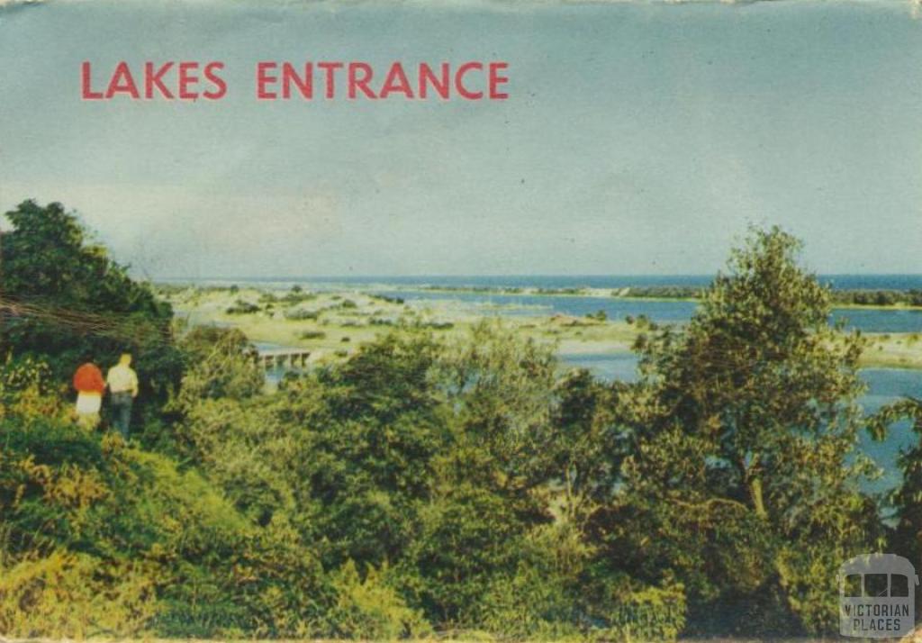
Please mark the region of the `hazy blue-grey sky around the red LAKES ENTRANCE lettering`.
[[[229, 91], [83, 101], [85, 60]], [[510, 97], [256, 101], [260, 60], [502, 60]], [[706, 274], [774, 224], [922, 273], [920, 60], [907, 2], [6, 3], [0, 211], [60, 201], [150, 279]]]

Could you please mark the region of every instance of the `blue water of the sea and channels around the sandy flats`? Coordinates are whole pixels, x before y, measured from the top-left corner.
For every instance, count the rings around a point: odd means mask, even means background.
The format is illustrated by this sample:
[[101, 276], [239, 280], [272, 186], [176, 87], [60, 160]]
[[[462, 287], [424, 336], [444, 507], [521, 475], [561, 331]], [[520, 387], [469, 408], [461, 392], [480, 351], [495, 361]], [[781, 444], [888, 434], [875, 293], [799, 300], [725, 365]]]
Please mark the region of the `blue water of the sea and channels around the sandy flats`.
[[[468, 308], [476, 315], [492, 316], [585, 316], [605, 311], [609, 319], [623, 320], [627, 316], [647, 316], [658, 323], [688, 321], [697, 304], [677, 300], [651, 301], [611, 297], [497, 294], [492, 292], [431, 292], [414, 290], [423, 287], [449, 288], [596, 288], [615, 289], [627, 286], [691, 286], [701, 287], [711, 276], [526, 276], [526, 277], [330, 277], [305, 279], [222, 279], [195, 280], [203, 285], [254, 283], [272, 288], [288, 289], [295, 284], [319, 291], [349, 289], [377, 292], [400, 297], [409, 305], [424, 307], [445, 302]], [[828, 275], [820, 280], [835, 289], [922, 290], [922, 275]], [[177, 280], [182, 281], [182, 280]], [[185, 280], [189, 281], [189, 280]], [[920, 332], [922, 310], [841, 308], [833, 311], [831, 321], [845, 319], [846, 327], [864, 332]], [[636, 358], [632, 354], [565, 354], [561, 359], [575, 366], [590, 369], [600, 377], [632, 381], [636, 379]], [[278, 378], [280, 374], [269, 374]], [[861, 403], [867, 412], [904, 396], [922, 398], [922, 371], [901, 369], [866, 369], [862, 376], [868, 382], [867, 395]], [[897, 457], [900, 451], [914, 444], [916, 436], [909, 423], [892, 427], [882, 443], [863, 435], [861, 448], [884, 471], [883, 477], [867, 485], [872, 492], [892, 489], [900, 482]]]

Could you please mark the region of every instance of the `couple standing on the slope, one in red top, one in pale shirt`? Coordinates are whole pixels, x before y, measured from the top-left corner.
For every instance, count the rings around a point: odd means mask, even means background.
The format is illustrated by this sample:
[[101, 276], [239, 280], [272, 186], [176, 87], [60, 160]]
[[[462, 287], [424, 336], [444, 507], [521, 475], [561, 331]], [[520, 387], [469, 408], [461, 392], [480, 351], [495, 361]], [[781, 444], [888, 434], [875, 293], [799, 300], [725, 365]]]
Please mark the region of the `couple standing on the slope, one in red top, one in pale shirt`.
[[124, 352], [109, 369], [105, 381], [99, 366], [87, 361], [74, 374], [77, 389], [77, 423], [94, 428], [100, 423], [102, 394], [109, 387], [112, 423], [125, 440], [131, 425], [131, 405], [137, 397], [137, 374], [131, 367], [131, 354]]

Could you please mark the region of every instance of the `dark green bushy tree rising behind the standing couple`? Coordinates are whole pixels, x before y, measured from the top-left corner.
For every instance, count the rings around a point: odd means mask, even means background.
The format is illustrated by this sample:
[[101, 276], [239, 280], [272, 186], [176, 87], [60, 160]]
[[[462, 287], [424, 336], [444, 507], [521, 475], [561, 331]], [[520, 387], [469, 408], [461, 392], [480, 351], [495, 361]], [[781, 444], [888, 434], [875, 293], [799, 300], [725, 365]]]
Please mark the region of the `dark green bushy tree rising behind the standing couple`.
[[132, 280], [60, 203], [23, 201], [6, 219], [0, 353], [41, 357], [69, 381], [85, 356], [104, 365], [132, 351], [141, 402], [165, 399], [182, 367], [170, 304]]

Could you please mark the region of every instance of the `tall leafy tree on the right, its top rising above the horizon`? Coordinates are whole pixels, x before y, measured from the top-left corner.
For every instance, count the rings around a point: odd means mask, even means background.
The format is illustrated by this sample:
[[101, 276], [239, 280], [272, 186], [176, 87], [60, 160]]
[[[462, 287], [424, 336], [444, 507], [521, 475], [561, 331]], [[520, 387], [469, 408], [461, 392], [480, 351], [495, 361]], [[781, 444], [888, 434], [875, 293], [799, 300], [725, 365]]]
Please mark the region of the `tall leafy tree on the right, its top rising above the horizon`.
[[876, 511], [854, 452], [863, 342], [828, 325], [830, 294], [799, 247], [752, 232], [687, 327], [638, 340], [643, 377], [623, 402], [637, 448], [597, 528], [621, 564], [676, 575], [699, 606], [742, 599], [774, 618], [765, 627], [819, 632], [835, 623], [835, 568], [867, 550]]

